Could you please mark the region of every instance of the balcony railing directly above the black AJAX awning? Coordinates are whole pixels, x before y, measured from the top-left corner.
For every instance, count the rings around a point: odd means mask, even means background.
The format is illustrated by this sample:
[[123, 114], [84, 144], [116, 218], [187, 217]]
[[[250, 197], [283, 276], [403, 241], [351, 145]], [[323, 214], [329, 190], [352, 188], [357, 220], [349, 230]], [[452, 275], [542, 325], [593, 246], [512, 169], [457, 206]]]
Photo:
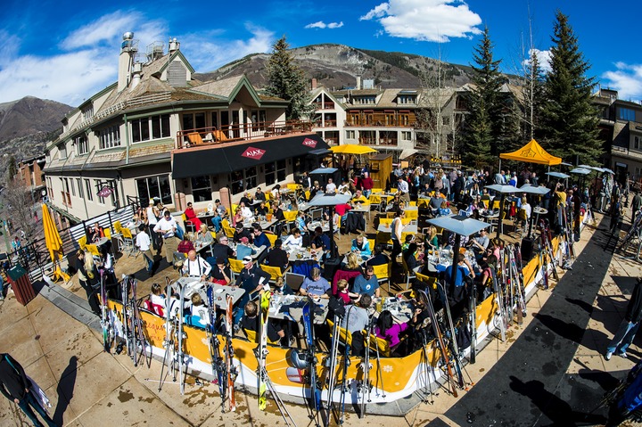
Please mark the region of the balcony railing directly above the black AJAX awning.
[[275, 135], [310, 132], [311, 129], [312, 123], [300, 120], [243, 123], [241, 125], [228, 125], [221, 128], [199, 127], [179, 130], [177, 132], [175, 148], [249, 141]]

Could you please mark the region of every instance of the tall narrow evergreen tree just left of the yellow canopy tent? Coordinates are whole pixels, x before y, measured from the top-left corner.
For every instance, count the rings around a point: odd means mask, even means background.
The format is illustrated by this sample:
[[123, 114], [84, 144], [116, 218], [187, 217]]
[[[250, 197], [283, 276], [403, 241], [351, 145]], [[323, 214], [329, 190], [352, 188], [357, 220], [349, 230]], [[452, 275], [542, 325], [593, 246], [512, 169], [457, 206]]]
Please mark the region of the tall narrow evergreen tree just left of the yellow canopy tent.
[[493, 44], [488, 27], [484, 29], [480, 44], [474, 48], [473, 78], [466, 95], [470, 114], [466, 117], [464, 156], [468, 164], [489, 164], [503, 151], [505, 144], [506, 94], [499, 72], [501, 61], [493, 60]]

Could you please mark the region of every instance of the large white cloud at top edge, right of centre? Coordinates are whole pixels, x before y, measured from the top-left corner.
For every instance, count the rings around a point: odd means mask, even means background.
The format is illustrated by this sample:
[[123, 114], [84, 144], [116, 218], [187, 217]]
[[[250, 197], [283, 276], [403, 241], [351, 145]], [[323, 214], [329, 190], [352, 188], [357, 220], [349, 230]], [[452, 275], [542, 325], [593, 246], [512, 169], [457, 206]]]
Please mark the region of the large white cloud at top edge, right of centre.
[[392, 37], [447, 42], [481, 34], [480, 16], [461, 0], [390, 0], [359, 18], [373, 19]]

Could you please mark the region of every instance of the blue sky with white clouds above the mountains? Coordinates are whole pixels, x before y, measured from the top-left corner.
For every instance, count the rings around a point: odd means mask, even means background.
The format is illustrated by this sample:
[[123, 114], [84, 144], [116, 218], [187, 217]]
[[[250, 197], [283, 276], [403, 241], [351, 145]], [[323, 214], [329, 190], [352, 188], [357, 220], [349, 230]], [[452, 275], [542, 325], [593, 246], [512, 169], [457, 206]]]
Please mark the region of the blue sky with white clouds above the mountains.
[[125, 31], [134, 31], [143, 53], [154, 41], [167, 48], [169, 37], [177, 37], [194, 69], [206, 72], [269, 52], [282, 35], [292, 46], [337, 43], [431, 57], [441, 52], [444, 61], [469, 64], [488, 26], [502, 69], [517, 72], [531, 46], [530, 25], [532, 46], [546, 58], [558, 7], [569, 15], [591, 63], [589, 75], [619, 90], [621, 99], [642, 99], [639, 0], [5, 0], [0, 103], [33, 95], [78, 105], [116, 81]]

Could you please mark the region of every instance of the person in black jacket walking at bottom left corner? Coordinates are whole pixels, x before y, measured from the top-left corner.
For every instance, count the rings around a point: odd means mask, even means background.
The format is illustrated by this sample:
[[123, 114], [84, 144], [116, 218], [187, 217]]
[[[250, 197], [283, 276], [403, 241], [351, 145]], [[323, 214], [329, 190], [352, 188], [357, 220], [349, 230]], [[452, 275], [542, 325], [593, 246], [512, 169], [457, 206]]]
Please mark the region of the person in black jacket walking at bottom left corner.
[[42, 426], [43, 423], [40, 423], [31, 408], [36, 409], [49, 427], [55, 426], [56, 423], [47, 415], [45, 409], [40, 406], [31, 388], [31, 382], [21, 364], [7, 353], [0, 354], [0, 392], [4, 394], [5, 398], [20, 406], [22, 411], [29, 416], [31, 423], [34, 423], [37, 427]]

